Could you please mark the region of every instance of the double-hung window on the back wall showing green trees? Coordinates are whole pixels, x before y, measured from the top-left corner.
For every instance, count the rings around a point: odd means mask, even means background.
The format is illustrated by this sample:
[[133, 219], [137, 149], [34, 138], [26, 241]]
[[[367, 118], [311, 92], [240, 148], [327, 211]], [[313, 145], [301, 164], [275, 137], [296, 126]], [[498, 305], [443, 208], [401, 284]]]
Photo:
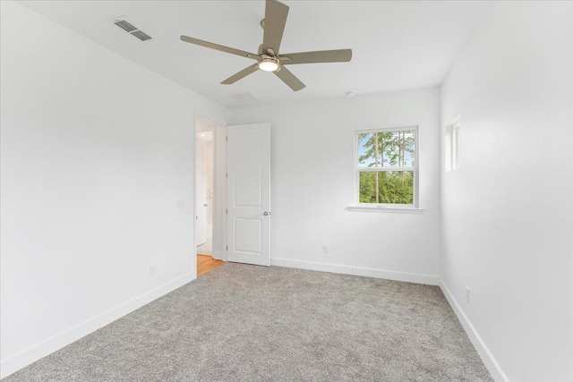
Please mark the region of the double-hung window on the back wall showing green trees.
[[417, 126], [358, 131], [355, 140], [355, 202], [418, 207]]

